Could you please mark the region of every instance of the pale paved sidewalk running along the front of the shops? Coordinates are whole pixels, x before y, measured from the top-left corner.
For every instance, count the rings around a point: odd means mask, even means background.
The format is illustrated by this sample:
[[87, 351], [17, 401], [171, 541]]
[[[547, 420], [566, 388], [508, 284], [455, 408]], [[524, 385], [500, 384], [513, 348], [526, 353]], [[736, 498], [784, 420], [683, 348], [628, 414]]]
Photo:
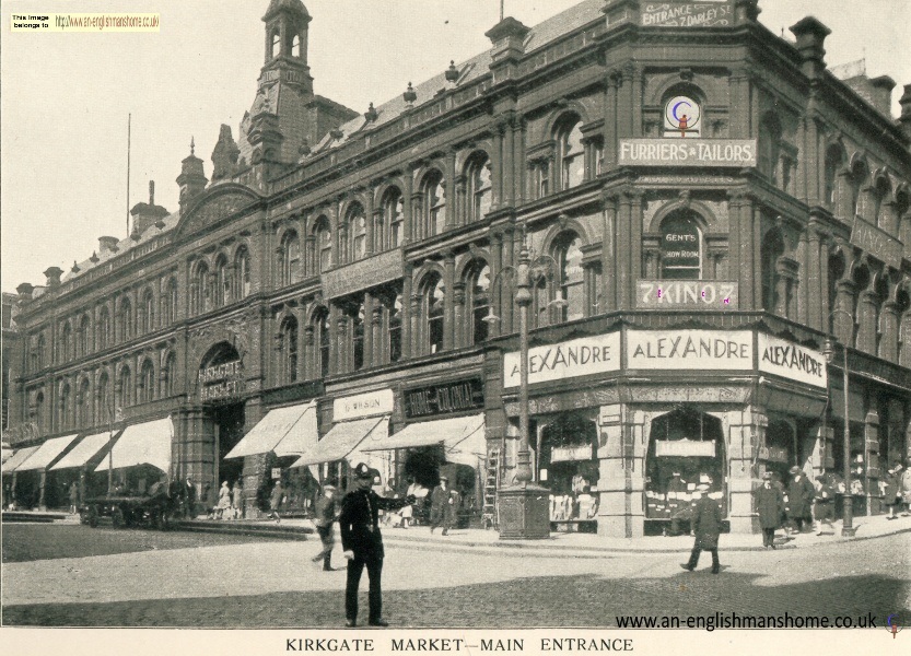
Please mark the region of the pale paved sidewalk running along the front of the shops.
[[[309, 519], [282, 519], [280, 524], [260, 520], [194, 520], [182, 523], [180, 528], [187, 530], [241, 531], [261, 534], [264, 537], [285, 537], [292, 539], [315, 539], [313, 523]], [[834, 532], [821, 536], [816, 534], [801, 534], [786, 538], [783, 531], [778, 531], [775, 543], [780, 549], [795, 549], [829, 544], [843, 541], [862, 541], [872, 538], [911, 531], [911, 517], [899, 517], [888, 520], [885, 515], [874, 517], [855, 517], [856, 535], [853, 538], [841, 537], [841, 522], [833, 525]], [[336, 531], [338, 534], [338, 531]], [[338, 537], [336, 538], [338, 540]], [[600, 558], [611, 553], [680, 553], [692, 548], [692, 538], [678, 537], [642, 537], [642, 538], [609, 538], [593, 534], [551, 532], [546, 540], [501, 540], [495, 530], [453, 529], [443, 536], [440, 530], [430, 532], [424, 526], [402, 528], [383, 528], [383, 541], [387, 546], [428, 546], [434, 550], [498, 550], [511, 553], [534, 553], [535, 555], [562, 558]], [[760, 535], [724, 534], [721, 536], [720, 548], [723, 551], [762, 551]]]

